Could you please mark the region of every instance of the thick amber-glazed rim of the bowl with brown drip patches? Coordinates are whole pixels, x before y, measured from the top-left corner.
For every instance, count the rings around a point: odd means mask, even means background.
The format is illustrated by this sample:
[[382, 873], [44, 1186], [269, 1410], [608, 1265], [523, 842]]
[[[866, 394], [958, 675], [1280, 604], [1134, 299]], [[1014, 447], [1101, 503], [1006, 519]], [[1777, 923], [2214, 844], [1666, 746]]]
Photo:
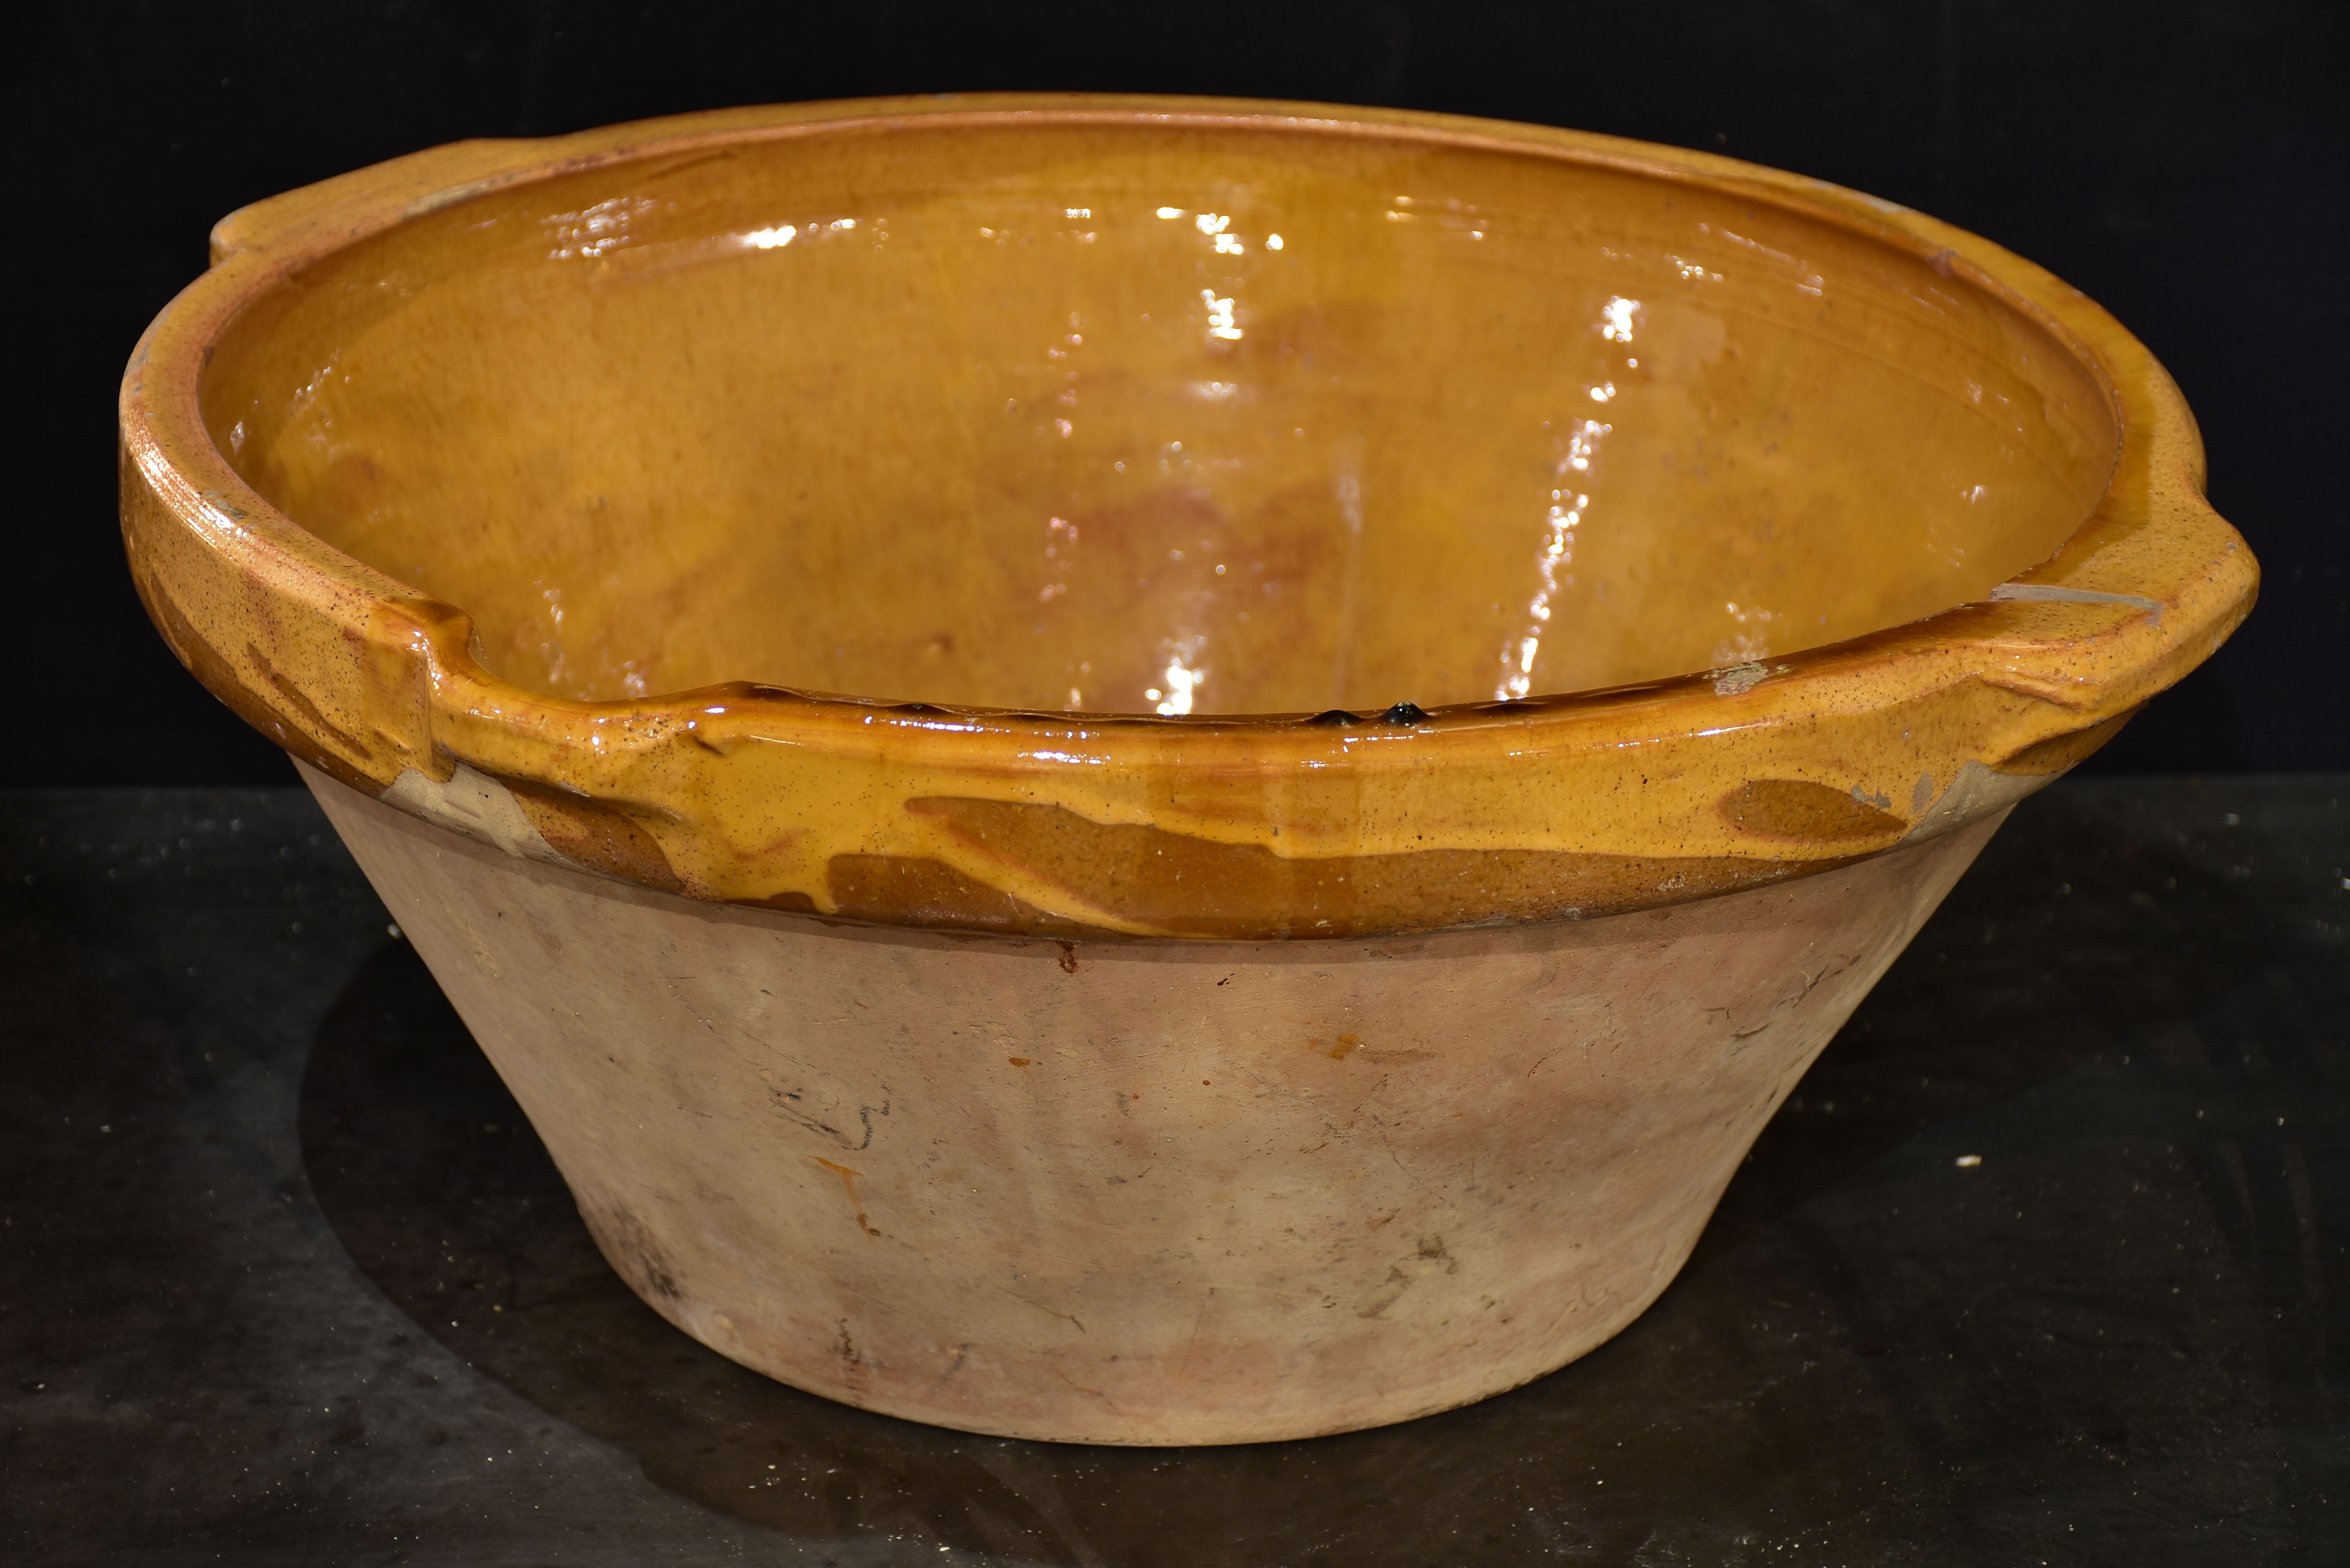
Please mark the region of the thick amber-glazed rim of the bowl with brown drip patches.
[[[200, 411], [254, 301], [479, 193], [726, 143], [1187, 125], [1549, 158], [1767, 202], [2007, 301], [2108, 390], [2110, 482], [1988, 599], [1767, 663], [1386, 715], [1067, 715], [724, 684], [569, 701], [489, 672], [470, 618], [301, 529]], [[1043, 936], [1410, 933], [1683, 903], [2009, 806], [2202, 663], [2258, 567], [2204, 501], [2171, 378], [2110, 315], [1976, 235], [1678, 148], [1452, 115], [1135, 96], [879, 99], [465, 141], [280, 195], [122, 383], [122, 527], [164, 639], [315, 769], [519, 856], [705, 900]]]

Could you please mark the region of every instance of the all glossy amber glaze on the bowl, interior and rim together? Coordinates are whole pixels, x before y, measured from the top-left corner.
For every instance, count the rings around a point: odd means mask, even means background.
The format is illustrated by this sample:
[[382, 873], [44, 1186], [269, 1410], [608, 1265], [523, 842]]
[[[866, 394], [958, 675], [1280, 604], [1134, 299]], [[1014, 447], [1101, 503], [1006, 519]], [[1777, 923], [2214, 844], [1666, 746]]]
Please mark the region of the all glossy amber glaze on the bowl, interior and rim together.
[[1567, 132], [738, 110], [216, 247], [125, 383], [157, 625], [336, 778], [698, 898], [1189, 938], [1699, 898], [1995, 811], [2256, 581], [2075, 292]]

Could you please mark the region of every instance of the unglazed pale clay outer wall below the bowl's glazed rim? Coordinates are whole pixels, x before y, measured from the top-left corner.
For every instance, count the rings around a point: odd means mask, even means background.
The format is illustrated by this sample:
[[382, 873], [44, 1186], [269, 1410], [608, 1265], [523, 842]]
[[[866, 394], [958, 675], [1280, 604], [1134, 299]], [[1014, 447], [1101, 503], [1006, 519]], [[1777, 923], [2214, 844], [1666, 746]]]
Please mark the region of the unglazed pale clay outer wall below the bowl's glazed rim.
[[646, 1302], [1093, 1443], [1405, 1420], [1617, 1333], [2005, 816], [1612, 919], [1093, 943], [689, 903], [308, 778]]

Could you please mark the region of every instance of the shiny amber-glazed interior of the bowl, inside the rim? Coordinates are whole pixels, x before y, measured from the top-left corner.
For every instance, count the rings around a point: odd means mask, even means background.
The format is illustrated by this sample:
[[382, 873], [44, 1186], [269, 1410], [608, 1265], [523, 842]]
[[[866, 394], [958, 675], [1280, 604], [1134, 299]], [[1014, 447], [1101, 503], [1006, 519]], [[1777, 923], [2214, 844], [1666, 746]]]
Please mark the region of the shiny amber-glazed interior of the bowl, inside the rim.
[[202, 386], [524, 686], [1046, 710], [1574, 691], [1983, 597], [2117, 425], [1892, 242], [1502, 143], [839, 125], [442, 207]]

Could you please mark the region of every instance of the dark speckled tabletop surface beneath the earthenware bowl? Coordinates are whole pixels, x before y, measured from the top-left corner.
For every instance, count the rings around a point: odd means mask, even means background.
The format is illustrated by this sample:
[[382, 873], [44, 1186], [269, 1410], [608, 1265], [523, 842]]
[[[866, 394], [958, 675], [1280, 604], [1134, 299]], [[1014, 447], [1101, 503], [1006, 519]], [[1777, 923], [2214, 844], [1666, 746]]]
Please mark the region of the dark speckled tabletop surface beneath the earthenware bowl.
[[306, 795], [7, 795], [0, 1561], [2350, 1563], [2345, 799], [2059, 783], [1617, 1340], [1135, 1450], [656, 1319]]

